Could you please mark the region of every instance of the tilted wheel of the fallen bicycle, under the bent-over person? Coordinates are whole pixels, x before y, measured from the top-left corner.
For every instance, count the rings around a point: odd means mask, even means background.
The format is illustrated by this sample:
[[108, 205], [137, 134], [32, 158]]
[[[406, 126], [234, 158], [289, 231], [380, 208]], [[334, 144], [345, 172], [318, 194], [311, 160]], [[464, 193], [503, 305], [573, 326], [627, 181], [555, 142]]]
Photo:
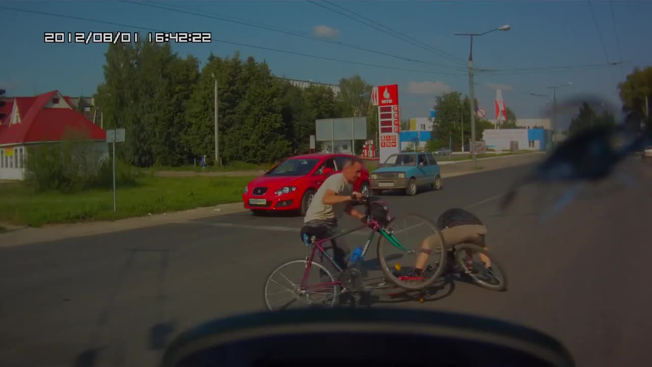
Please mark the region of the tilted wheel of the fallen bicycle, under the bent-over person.
[[[473, 258], [468, 259], [467, 251], [473, 253]], [[483, 254], [491, 260], [491, 269], [486, 268], [481, 259], [476, 259], [475, 255]], [[460, 244], [455, 249], [455, 259], [460, 265], [460, 268], [466, 270], [466, 274], [471, 276], [473, 281], [486, 289], [492, 291], [506, 291], [507, 290], [507, 274], [503, 271], [500, 264], [496, 261], [494, 255], [480, 246], [473, 244]], [[469, 269], [467, 262], [473, 262], [473, 269]], [[477, 272], [477, 266], [481, 266], [483, 270]], [[497, 270], [497, 272], [496, 272]], [[497, 275], [498, 274], [498, 275]]]

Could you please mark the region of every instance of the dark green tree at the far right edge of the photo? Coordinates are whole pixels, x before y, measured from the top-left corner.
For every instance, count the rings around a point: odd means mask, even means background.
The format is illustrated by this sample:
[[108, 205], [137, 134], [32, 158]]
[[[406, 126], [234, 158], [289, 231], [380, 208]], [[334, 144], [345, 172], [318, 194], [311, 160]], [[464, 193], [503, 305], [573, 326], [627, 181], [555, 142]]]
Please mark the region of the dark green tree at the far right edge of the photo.
[[[652, 100], [652, 67], [636, 67], [624, 82], [618, 84], [618, 89], [627, 123], [631, 128], [638, 129], [640, 121], [645, 119], [645, 97]], [[652, 104], [652, 101], [648, 103]]]

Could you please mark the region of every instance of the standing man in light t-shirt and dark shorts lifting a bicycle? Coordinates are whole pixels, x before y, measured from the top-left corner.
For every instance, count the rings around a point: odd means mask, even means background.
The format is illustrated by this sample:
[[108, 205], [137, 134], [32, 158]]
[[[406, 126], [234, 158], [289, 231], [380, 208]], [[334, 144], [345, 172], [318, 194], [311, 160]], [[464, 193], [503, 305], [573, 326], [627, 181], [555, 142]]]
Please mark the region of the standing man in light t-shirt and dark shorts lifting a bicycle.
[[[333, 174], [324, 181], [312, 198], [303, 219], [304, 228], [311, 227], [313, 231], [323, 234], [321, 238], [328, 238], [338, 234], [337, 220], [344, 213], [366, 222], [364, 214], [351, 205], [363, 197], [361, 193], [353, 191], [353, 183], [359, 180], [362, 169], [363, 161], [351, 157], [344, 162], [342, 173]], [[301, 232], [303, 237], [304, 231]], [[331, 240], [331, 246], [324, 247], [324, 250], [342, 270], [346, 269], [346, 256], [351, 251], [346, 244], [337, 244]], [[339, 272], [330, 261], [322, 259], [321, 263], [331, 274]]]

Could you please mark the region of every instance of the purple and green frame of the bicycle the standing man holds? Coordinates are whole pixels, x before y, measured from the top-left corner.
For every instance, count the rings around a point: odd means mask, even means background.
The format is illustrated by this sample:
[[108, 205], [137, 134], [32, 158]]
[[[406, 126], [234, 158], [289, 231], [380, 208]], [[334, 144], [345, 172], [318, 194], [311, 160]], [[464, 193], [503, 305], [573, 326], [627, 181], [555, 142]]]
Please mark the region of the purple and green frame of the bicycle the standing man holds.
[[[392, 223], [393, 221], [394, 221], [394, 218], [391, 221], [389, 221], [389, 223]], [[389, 224], [389, 223], [387, 223], [387, 224]], [[366, 223], [366, 224], [360, 225], [359, 227], [355, 227], [353, 229], [349, 229], [348, 231], [342, 232], [340, 234], [336, 234], [335, 236], [332, 236], [332, 237], [329, 237], [329, 238], [324, 238], [322, 240], [316, 240], [312, 244], [312, 249], [310, 249], [310, 255], [308, 255], [308, 257], [306, 257], [306, 270], [305, 270], [305, 272], [303, 274], [303, 279], [301, 280], [301, 289], [306, 290], [308, 288], [313, 288], [313, 287], [326, 287], [328, 285], [341, 285], [342, 284], [341, 281], [331, 281], [331, 282], [328, 282], [328, 283], [318, 283], [316, 285], [306, 286], [306, 281], [308, 280], [308, 274], [310, 272], [310, 268], [312, 267], [312, 261], [314, 260], [316, 251], [319, 249], [321, 254], [323, 256], [325, 256], [331, 262], [331, 264], [333, 264], [333, 266], [335, 266], [335, 268], [337, 268], [337, 270], [339, 272], [342, 272], [342, 268], [340, 268], [340, 266], [334, 261], [334, 259], [331, 256], [329, 256], [329, 254], [326, 253], [325, 249], [323, 249], [321, 244], [323, 244], [323, 243], [325, 243], [327, 241], [334, 240], [335, 238], [345, 236], [346, 234], [353, 233], [353, 232], [356, 232], [356, 231], [360, 231], [364, 227], [370, 227], [372, 229], [372, 231], [370, 232], [370, 234], [369, 234], [369, 236], [368, 236], [368, 238], [366, 240], [366, 243], [364, 244], [363, 252], [361, 253], [360, 258], [358, 259], [356, 264], [360, 263], [364, 259], [364, 255], [366, 255], [366, 252], [369, 249], [370, 244], [374, 240], [374, 237], [376, 236], [376, 232], [379, 232], [381, 234], [381, 236], [385, 237], [397, 249], [400, 249], [401, 251], [404, 251], [404, 252], [409, 251], [408, 249], [406, 249], [406, 247], [404, 247], [400, 243], [400, 241], [398, 241], [398, 239], [396, 239], [396, 237], [394, 237], [393, 234], [388, 232], [378, 221], [376, 221], [375, 219], [370, 219], [370, 221], [368, 223]], [[355, 266], [355, 264], [353, 264], [353, 265]]]

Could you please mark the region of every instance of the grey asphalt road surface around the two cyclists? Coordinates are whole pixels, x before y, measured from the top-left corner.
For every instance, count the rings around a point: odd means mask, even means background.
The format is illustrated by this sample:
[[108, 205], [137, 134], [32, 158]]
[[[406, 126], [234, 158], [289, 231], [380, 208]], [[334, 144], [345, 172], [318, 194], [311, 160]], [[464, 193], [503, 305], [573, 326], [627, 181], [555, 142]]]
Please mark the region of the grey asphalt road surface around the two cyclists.
[[[590, 187], [548, 223], [541, 213], [563, 187], [525, 187], [511, 210], [497, 209], [527, 167], [445, 179], [442, 191], [416, 197], [385, 197], [398, 217], [471, 208], [488, 225], [510, 289], [454, 282], [423, 304], [381, 298], [374, 306], [524, 323], [559, 338], [578, 366], [647, 364], [652, 167], [635, 159], [626, 166], [633, 187], [615, 180]], [[265, 277], [304, 255], [300, 227], [301, 218], [240, 213], [0, 249], [0, 366], [154, 366], [177, 332], [261, 310]]]

